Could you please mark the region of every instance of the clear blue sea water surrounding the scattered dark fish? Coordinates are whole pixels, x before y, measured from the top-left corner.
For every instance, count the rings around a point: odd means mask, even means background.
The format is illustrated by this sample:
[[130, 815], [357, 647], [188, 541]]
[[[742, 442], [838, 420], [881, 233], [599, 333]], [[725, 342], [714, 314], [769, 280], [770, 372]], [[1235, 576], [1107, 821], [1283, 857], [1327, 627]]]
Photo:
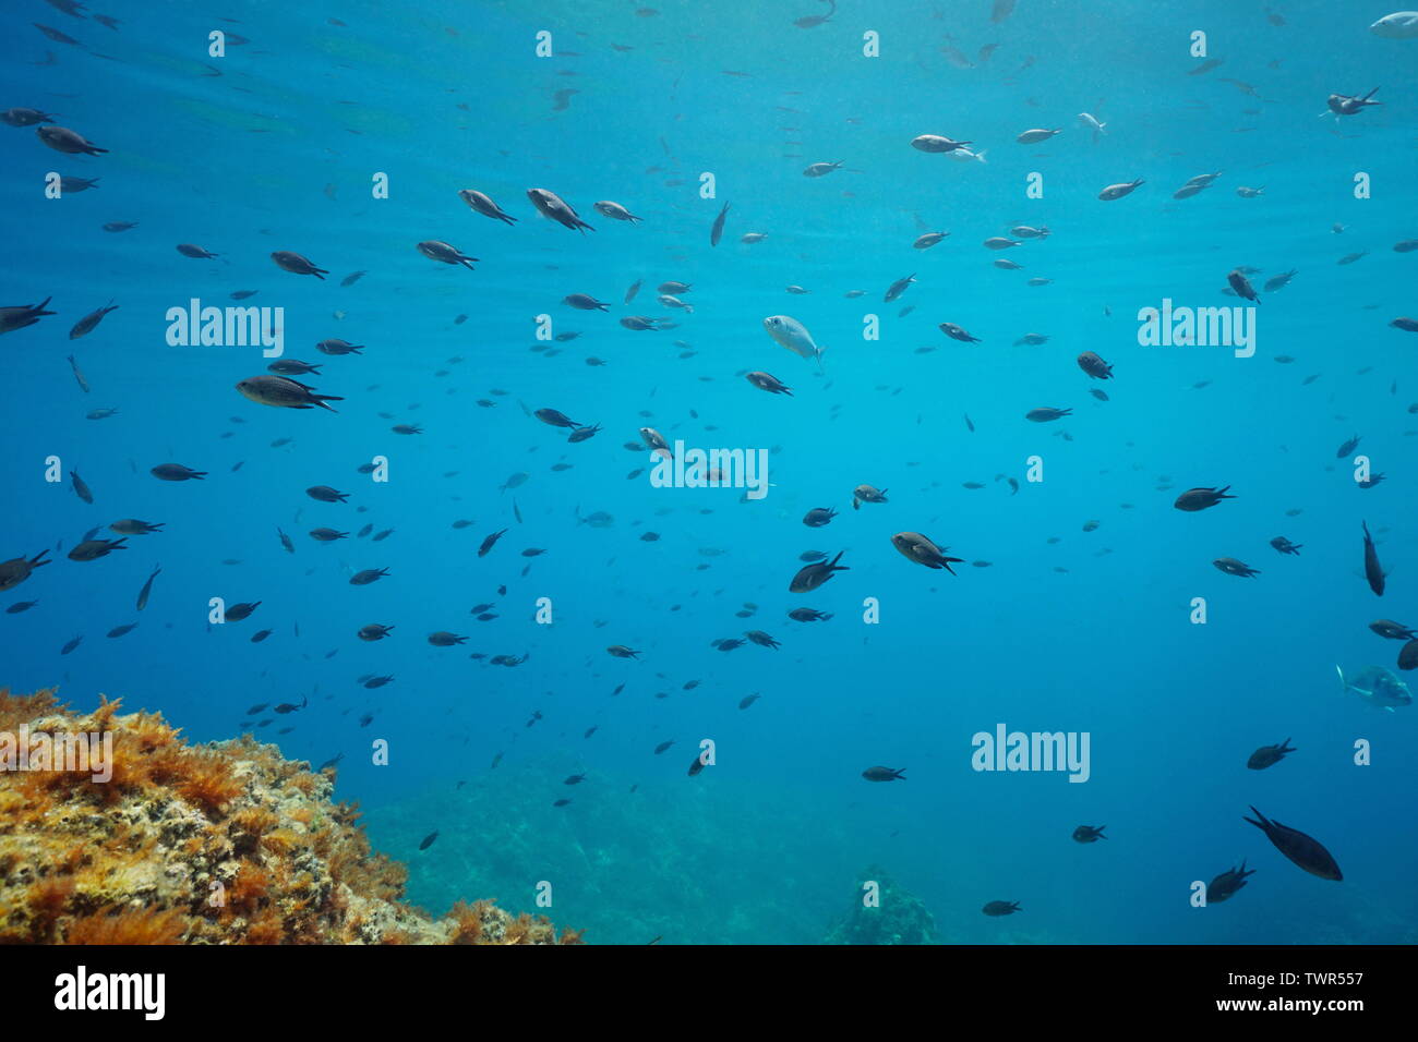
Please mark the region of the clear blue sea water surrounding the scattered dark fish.
[[[252, 730], [315, 764], [343, 753], [337, 794], [362, 802], [377, 848], [410, 862], [411, 900], [441, 913], [496, 896], [590, 941], [818, 943], [859, 903], [869, 866], [923, 902], [944, 943], [1414, 941], [1418, 710], [1366, 706], [1334, 666], [1394, 668], [1401, 644], [1367, 624], [1418, 624], [1418, 340], [1388, 325], [1418, 315], [1418, 254], [1392, 250], [1418, 237], [1418, 41], [1371, 35], [1377, 9], [1320, 1], [1021, 0], [993, 23], [983, 0], [844, 0], [808, 28], [793, 23], [825, 14], [817, 0], [647, 3], [655, 13], [95, 3], [116, 30], [38, 0], [7, 6], [0, 106], [54, 113], [109, 152], [61, 155], [34, 128], [0, 126], [0, 305], [52, 298], [57, 312], [0, 342], [0, 559], [54, 559], [0, 594], [6, 607], [38, 600], [0, 615], [0, 683], [60, 685], [78, 706], [106, 692], [194, 740]], [[213, 30], [247, 43], [208, 57]], [[553, 57], [536, 57], [543, 30]], [[1188, 51], [1195, 30], [1222, 64], [1188, 75], [1205, 61]], [[879, 57], [864, 57], [866, 31]], [[1320, 118], [1330, 94], [1374, 86], [1381, 106]], [[1078, 123], [1085, 111], [1105, 136]], [[1029, 128], [1062, 132], [1017, 143]], [[917, 152], [922, 133], [970, 140], [986, 162]], [[101, 181], [52, 200], [50, 172]], [[1212, 172], [1195, 197], [1171, 198]], [[376, 174], [387, 198], [372, 194]], [[1027, 194], [1031, 174], [1042, 197]], [[1242, 186], [1263, 194], [1242, 198]], [[594, 233], [540, 218], [530, 187]], [[459, 189], [518, 223], [472, 213]], [[603, 217], [597, 200], [642, 223]], [[1051, 234], [981, 247], [1020, 224]], [[925, 231], [950, 235], [913, 250]], [[767, 238], [743, 244], [747, 233]], [[423, 240], [481, 258], [476, 269], [420, 255]], [[217, 257], [183, 257], [179, 242]], [[279, 269], [279, 250], [328, 279]], [[1245, 305], [1222, 293], [1242, 265], [1261, 291], [1252, 357], [1139, 344], [1139, 309], [1164, 299]], [[1261, 289], [1292, 268], [1289, 286]], [[917, 282], [883, 303], [909, 274]], [[655, 302], [671, 279], [692, 284], [693, 313]], [[167, 309], [231, 305], [234, 291], [284, 308], [285, 357], [322, 364], [299, 379], [340, 396], [337, 413], [241, 397], [235, 383], [269, 362], [259, 349], [169, 346]], [[567, 308], [569, 293], [608, 312]], [[109, 299], [118, 310], [69, 342]], [[537, 340], [540, 315], [579, 336]], [[678, 327], [632, 332], [627, 315]], [[822, 373], [766, 335], [770, 315], [811, 330]], [[864, 339], [868, 315], [879, 339]], [[947, 339], [942, 322], [980, 343]], [[1015, 344], [1025, 333], [1048, 340]], [[313, 344], [328, 337], [363, 354], [326, 357]], [[1089, 380], [1085, 350], [1115, 379]], [[749, 370], [793, 397], [752, 387]], [[527, 413], [545, 407], [604, 430], [567, 444]], [[1072, 414], [1028, 422], [1037, 407]], [[119, 411], [86, 420], [96, 408]], [[647, 425], [688, 447], [769, 449], [767, 496], [654, 488], [648, 449], [624, 447]], [[1337, 458], [1351, 435], [1358, 448]], [[1383, 483], [1356, 485], [1358, 455]], [[357, 472], [376, 456], [387, 482]], [[1032, 456], [1042, 481], [1029, 481]], [[207, 478], [156, 481], [163, 462]], [[513, 474], [529, 478], [501, 491]], [[864, 482], [889, 502], [852, 510]], [[315, 502], [312, 485], [349, 500]], [[1235, 499], [1173, 509], [1184, 489], [1221, 485]], [[820, 506], [838, 516], [805, 527]], [[597, 510], [608, 527], [580, 523]], [[65, 559], [119, 517], [164, 529]], [[1361, 522], [1390, 571], [1381, 600], [1364, 581]], [[393, 534], [357, 537], [366, 525]], [[350, 534], [318, 543], [316, 526]], [[957, 574], [908, 561], [891, 543], [903, 530], [949, 546]], [[1302, 553], [1278, 554], [1275, 536]], [[849, 570], [790, 594], [805, 550], [841, 551]], [[1218, 557], [1261, 573], [1222, 574]], [[349, 584], [376, 567], [389, 576]], [[213, 597], [261, 607], [208, 625]], [[537, 598], [550, 625], [535, 621]], [[498, 618], [475, 620], [479, 603]], [[797, 607], [834, 618], [790, 621]], [[370, 622], [396, 628], [357, 639]], [[272, 635], [252, 644], [262, 628]], [[746, 629], [781, 646], [712, 646]], [[468, 641], [430, 646], [432, 631]], [[638, 661], [607, 655], [613, 644]], [[396, 679], [370, 690], [366, 675]], [[244, 712], [302, 698], [286, 716]], [[1088, 781], [974, 771], [971, 736], [1000, 723], [1088, 733]], [[1246, 768], [1285, 737], [1299, 751]], [[689, 777], [702, 739], [715, 764]], [[372, 763], [374, 740], [387, 766]], [[872, 766], [906, 780], [871, 784]], [[1252, 804], [1320, 839], [1344, 880], [1288, 862], [1242, 821]], [[1106, 824], [1107, 841], [1072, 842], [1079, 824]], [[1241, 893], [1191, 906], [1194, 880], [1242, 858], [1256, 875]], [[542, 880], [554, 897], [537, 909]], [[1022, 912], [981, 916], [990, 900]]]

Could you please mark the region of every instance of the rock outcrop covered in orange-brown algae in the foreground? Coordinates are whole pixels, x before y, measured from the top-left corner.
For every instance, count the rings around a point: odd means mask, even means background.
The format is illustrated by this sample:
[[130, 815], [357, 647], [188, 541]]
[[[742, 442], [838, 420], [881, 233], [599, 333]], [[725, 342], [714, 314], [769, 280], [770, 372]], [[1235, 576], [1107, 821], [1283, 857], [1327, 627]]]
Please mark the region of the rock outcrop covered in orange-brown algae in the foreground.
[[[0, 943], [580, 943], [491, 900], [430, 919], [400, 900], [407, 873], [372, 852], [357, 807], [332, 802], [333, 773], [251, 736], [191, 746], [160, 715], [118, 710], [0, 689]], [[111, 734], [111, 777], [7, 770], [21, 729]]]

